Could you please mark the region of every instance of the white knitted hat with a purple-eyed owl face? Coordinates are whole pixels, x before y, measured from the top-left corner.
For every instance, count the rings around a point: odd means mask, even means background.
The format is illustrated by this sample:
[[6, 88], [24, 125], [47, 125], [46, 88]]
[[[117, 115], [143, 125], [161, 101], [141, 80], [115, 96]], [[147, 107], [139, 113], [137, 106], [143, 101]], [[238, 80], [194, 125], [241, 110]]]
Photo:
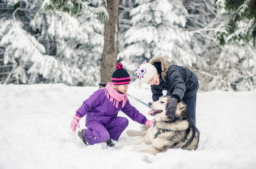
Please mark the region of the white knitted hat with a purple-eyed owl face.
[[157, 69], [151, 63], [146, 63], [146, 60], [143, 60], [136, 72], [138, 79], [146, 84], [156, 73]]

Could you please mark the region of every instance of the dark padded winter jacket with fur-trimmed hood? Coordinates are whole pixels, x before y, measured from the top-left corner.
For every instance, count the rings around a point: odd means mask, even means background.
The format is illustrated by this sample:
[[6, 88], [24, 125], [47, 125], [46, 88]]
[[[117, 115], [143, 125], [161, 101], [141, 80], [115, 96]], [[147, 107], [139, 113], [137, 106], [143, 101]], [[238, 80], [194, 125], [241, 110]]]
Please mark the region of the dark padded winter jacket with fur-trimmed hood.
[[178, 101], [197, 93], [198, 78], [188, 68], [171, 65], [164, 57], [155, 57], [150, 60], [150, 63], [160, 74], [160, 84], [151, 85], [153, 101], [163, 96], [163, 90], [167, 90], [167, 95], [175, 97]]

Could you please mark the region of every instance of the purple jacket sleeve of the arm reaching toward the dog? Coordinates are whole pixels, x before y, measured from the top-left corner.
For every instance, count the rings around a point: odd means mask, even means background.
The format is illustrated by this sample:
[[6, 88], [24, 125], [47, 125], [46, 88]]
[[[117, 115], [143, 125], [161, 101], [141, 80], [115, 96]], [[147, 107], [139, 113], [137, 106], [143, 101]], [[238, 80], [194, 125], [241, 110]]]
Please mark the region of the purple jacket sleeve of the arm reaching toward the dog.
[[127, 100], [124, 108], [122, 108], [121, 111], [124, 112], [125, 115], [128, 115], [128, 117], [130, 117], [132, 120], [140, 124], [145, 124], [147, 120], [146, 117], [143, 114], [141, 114], [137, 109], [135, 109], [134, 106], [131, 106], [129, 100]]

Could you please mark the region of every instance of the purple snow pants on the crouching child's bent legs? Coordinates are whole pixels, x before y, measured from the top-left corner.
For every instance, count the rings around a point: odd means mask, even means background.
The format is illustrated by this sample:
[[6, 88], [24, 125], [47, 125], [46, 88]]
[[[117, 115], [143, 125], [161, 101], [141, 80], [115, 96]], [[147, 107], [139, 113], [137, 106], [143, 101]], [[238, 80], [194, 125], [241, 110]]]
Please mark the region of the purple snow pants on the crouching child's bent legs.
[[105, 125], [102, 123], [88, 123], [86, 124], [87, 129], [84, 130], [84, 138], [91, 145], [103, 143], [109, 138], [117, 141], [128, 123], [128, 119], [125, 117], [113, 117]]

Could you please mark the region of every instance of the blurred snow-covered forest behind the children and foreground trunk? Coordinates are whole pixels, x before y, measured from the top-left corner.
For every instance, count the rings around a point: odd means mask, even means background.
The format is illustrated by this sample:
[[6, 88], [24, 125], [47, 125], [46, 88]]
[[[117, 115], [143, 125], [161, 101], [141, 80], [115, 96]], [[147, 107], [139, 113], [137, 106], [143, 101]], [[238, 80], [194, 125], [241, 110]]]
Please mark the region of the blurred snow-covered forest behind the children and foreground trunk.
[[[66, 0], [68, 2], [68, 0]], [[104, 24], [43, 11], [42, 0], [0, 0], [0, 84], [98, 86]], [[140, 63], [164, 56], [198, 76], [200, 90], [256, 87], [256, 0], [119, 0], [118, 55], [138, 88]]]

